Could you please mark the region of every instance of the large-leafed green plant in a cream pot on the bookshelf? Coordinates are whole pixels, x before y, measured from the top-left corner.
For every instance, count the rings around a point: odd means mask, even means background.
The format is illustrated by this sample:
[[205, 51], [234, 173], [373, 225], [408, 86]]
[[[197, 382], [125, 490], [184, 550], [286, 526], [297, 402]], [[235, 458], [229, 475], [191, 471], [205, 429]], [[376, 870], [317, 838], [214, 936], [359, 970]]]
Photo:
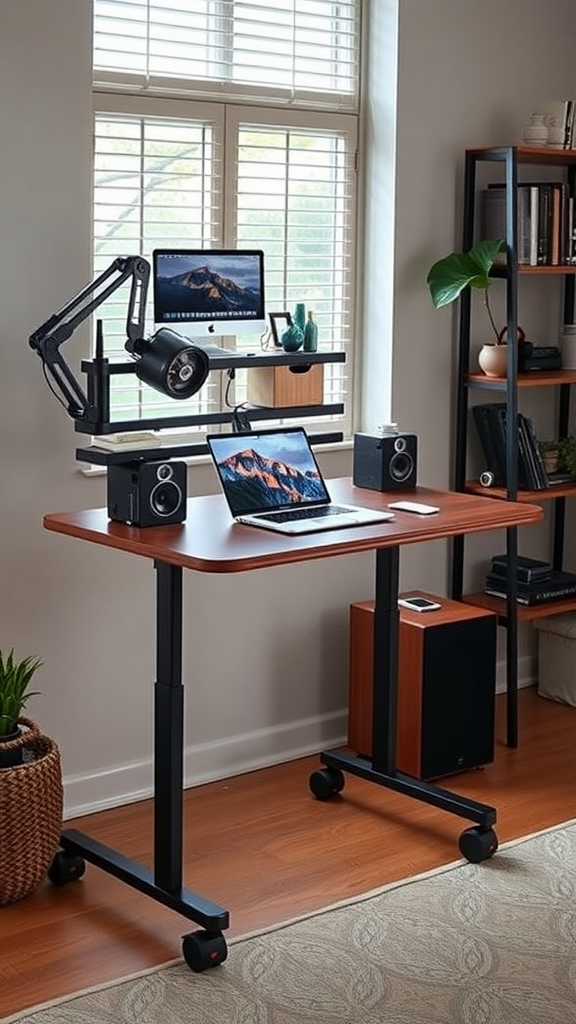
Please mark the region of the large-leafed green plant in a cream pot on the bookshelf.
[[[498, 330], [492, 309], [489, 291], [492, 285], [490, 271], [499, 253], [505, 252], [504, 239], [488, 239], [477, 242], [467, 253], [450, 253], [433, 263], [426, 283], [433, 303], [437, 309], [454, 302], [464, 288], [477, 288], [483, 295], [494, 341], [483, 345], [479, 362], [488, 377], [504, 377], [506, 374], [506, 329]], [[523, 337], [522, 332], [521, 337]]]

